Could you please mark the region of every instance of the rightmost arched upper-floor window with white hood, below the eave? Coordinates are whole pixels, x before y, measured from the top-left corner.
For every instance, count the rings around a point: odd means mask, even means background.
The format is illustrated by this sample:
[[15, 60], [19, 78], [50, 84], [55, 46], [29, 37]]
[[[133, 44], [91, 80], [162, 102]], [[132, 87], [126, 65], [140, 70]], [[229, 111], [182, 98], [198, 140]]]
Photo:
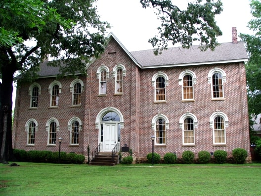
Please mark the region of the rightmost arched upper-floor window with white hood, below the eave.
[[211, 92], [213, 99], [224, 98], [224, 83], [226, 82], [226, 74], [222, 69], [215, 67], [208, 74], [208, 82], [211, 84]]

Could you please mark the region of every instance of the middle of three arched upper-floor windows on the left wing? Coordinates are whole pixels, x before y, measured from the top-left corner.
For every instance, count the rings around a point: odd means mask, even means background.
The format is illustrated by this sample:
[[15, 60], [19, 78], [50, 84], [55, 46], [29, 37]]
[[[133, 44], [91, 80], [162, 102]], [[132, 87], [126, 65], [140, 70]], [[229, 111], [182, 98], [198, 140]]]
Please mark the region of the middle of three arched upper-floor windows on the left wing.
[[50, 106], [55, 107], [59, 104], [59, 94], [61, 93], [62, 85], [58, 81], [53, 81], [48, 88], [50, 94]]

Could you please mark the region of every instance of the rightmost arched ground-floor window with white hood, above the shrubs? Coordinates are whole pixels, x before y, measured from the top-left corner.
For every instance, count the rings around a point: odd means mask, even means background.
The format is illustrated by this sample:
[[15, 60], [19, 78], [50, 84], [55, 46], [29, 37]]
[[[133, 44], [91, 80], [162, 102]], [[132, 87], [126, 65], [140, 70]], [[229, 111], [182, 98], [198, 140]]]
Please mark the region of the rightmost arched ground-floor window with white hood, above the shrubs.
[[213, 144], [226, 144], [226, 130], [228, 127], [227, 116], [220, 111], [215, 112], [210, 117], [210, 128], [213, 129]]

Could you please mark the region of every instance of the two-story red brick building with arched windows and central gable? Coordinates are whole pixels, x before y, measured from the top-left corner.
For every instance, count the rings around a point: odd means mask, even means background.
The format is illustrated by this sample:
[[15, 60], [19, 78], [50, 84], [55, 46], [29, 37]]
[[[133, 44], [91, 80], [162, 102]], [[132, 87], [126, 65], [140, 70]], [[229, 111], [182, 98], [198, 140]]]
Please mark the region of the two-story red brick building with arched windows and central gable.
[[[235, 30], [235, 29], [234, 29]], [[234, 34], [236, 34], [234, 32]], [[250, 156], [245, 61], [242, 42], [215, 51], [180, 47], [155, 56], [129, 52], [111, 33], [87, 77], [56, 80], [58, 69], [41, 64], [35, 83], [17, 89], [13, 147], [87, 155], [127, 146], [133, 156], [152, 150], [162, 157], [184, 150], [237, 147]]]

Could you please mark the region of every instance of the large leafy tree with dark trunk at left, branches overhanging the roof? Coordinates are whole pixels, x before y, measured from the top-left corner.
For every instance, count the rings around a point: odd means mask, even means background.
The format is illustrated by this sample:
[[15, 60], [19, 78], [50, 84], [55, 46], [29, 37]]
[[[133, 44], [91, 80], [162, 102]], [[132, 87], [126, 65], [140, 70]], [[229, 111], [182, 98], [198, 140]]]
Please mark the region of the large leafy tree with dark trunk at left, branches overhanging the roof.
[[[85, 63], [91, 56], [104, 51], [104, 34], [109, 27], [99, 20], [96, 0], [3, 0], [0, 3], [0, 161], [7, 162], [12, 153], [11, 108], [14, 73], [20, 81], [37, 79], [39, 64], [46, 54], [56, 60], [49, 64], [59, 66], [60, 77], [77, 71], [85, 73]], [[24, 3], [26, 2], [26, 3]], [[15, 3], [18, 3], [17, 6]], [[20, 3], [20, 4], [19, 4]], [[221, 35], [215, 15], [222, 11], [220, 0], [197, 0], [180, 10], [171, 0], [140, 0], [144, 8], [156, 8], [162, 20], [159, 36], [149, 42], [155, 54], [166, 49], [168, 42], [181, 43], [189, 48], [193, 41], [201, 42], [201, 49], [215, 49], [216, 37]], [[22, 8], [19, 8], [22, 7]], [[23, 12], [23, 8], [26, 8]], [[29, 11], [30, 9], [30, 11]], [[31, 12], [32, 11], [32, 12]], [[90, 33], [90, 29], [96, 29]], [[7, 36], [7, 38], [6, 38]], [[9, 36], [9, 37], [8, 37]], [[34, 41], [28, 47], [22, 41]], [[205, 45], [205, 46], [203, 46]]]

